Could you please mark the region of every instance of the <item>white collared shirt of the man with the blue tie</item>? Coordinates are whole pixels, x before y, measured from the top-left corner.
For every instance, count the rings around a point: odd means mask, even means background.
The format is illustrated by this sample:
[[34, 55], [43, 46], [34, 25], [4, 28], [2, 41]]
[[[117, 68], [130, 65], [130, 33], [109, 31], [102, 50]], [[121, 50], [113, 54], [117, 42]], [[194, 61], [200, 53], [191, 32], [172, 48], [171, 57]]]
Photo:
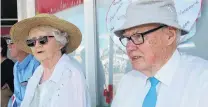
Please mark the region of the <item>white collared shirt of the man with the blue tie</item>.
[[[155, 75], [156, 107], [208, 107], [208, 62], [174, 52]], [[133, 70], [121, 79], [111, 107], [142, 107], [150, 82], [144, 74]]]

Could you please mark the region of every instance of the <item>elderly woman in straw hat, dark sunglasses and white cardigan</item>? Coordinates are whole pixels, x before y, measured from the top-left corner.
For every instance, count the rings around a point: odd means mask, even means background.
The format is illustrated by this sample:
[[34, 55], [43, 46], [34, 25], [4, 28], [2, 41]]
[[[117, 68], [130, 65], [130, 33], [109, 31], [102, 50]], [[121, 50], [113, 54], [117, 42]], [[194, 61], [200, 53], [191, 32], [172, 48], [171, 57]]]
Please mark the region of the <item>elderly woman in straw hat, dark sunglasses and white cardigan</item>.
[[90, 107], [82, 71], [66, 55], [81, 42], [75, 25], [39, 14], [16, 23], [10, 34], [22, 50], [41, 62], [27, 84], [21, 107]]

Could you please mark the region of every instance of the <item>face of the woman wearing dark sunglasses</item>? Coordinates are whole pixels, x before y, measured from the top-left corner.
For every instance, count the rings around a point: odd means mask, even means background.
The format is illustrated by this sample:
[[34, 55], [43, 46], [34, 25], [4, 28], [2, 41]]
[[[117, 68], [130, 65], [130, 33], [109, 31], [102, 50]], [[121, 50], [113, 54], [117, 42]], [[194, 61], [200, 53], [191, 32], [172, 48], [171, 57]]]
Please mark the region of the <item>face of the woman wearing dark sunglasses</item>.
[[53, 36], [52, 28], [33, 28], [27, 40], [32, 40], [31, 43], [34, 46], [31, 46], [33, 55], [39, 60], [44, 61], [46, 59], [51, 59], [57, 52], [61, 52], [61, 48], [59, 42], [56, 41]]

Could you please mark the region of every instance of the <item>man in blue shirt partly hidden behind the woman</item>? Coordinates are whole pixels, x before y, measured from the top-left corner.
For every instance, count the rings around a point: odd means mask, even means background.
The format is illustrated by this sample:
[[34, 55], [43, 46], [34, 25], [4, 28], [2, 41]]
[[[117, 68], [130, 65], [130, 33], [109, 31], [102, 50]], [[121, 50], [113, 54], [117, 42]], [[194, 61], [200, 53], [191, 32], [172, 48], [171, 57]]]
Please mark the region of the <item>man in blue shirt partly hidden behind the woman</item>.
[[14, 94], [10, 98], [8, 107], [19, 107], [25, 95], [27, 82], [40, 63], [33, 55], [21, 50], [17, 44], [13, 43], [11, 38], [7, 38], [6, 42], [11, 57], [17, 60], [13, 69]]

